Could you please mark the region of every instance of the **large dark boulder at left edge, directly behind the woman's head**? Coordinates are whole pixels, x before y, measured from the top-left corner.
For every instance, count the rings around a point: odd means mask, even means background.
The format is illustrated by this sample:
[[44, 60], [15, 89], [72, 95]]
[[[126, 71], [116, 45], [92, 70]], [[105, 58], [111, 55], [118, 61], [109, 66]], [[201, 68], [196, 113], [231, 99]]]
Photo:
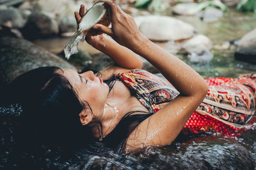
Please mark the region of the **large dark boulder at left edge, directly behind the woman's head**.
[[76, 68], [60, 57], [19, 38], [0, 38], [0, 84], [10, 83], [17, 76], [36, 67]]

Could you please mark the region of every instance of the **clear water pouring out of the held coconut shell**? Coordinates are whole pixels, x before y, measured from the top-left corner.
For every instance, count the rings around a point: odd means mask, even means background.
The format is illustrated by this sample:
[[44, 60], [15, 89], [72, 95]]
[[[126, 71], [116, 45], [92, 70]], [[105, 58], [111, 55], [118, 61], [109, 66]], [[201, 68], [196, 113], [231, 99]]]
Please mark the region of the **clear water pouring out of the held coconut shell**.
[[64, 47], [65, 57], [67, 59], [74, 53], [77, 53], [77, 45], [80, 41], [84, 41], [85, 35], [81, 31], [76, 31], [71, 39], [67, 41]]

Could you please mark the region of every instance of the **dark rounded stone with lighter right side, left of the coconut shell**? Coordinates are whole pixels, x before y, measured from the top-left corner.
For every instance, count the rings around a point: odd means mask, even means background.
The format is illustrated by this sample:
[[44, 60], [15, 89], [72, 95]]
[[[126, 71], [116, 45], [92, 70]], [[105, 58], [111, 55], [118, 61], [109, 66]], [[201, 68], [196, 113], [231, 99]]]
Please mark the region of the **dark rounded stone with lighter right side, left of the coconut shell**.
[[58, 34], [59, 28], [54, 16], [51, 13], [38, 12], [32, 13], [24, 27], [25, 37], [33, 38], [36, 36], [50, 36]]

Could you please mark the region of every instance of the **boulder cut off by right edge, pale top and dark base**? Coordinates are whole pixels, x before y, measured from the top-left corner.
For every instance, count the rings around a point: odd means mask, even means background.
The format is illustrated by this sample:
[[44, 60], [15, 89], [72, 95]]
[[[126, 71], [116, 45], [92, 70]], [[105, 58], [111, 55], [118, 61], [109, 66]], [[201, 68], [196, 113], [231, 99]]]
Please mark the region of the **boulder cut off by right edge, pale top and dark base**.
[[256, 29], [241, 38], [235, 58], [256, 64]]

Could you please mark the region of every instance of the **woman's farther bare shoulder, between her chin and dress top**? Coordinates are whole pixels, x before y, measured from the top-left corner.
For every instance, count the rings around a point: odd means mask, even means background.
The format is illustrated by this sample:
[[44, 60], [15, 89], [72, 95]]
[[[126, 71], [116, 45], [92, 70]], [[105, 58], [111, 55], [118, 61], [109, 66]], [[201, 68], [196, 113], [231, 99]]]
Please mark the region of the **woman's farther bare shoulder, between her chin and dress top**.
[[113, 76], [113, 74], [125, 73], [128, 71], [131, 71], [131, 69], [125, 69], [124, 67], [119, 66], [109, 66], [106, 67], [106, 69], [102, 69], [101, 71], [99, 71], [99, 77], [102, 80], [108, 80], [109, 78], [111, 78], [111, 76]]

